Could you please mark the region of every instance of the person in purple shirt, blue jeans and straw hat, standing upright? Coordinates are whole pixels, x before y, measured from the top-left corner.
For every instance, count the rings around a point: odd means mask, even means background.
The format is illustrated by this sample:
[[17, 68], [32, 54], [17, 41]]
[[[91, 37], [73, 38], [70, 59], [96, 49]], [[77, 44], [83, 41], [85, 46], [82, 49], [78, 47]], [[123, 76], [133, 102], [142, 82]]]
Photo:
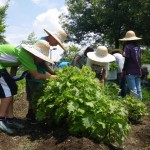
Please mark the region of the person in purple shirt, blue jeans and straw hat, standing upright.
[[125, 57], [125, 63], [123, 67], [122, 76], [125, 75], [127, 85], [130, 90], [130, 94], [134, 97], [142, 100], [141, 89], [141, 54], [142, 50], [138, 41], [141, 38], [135, 35], [134, 31], [127, 31], [124, 38], [119, 39], [125, 42], [123, 48], [123, 56]]

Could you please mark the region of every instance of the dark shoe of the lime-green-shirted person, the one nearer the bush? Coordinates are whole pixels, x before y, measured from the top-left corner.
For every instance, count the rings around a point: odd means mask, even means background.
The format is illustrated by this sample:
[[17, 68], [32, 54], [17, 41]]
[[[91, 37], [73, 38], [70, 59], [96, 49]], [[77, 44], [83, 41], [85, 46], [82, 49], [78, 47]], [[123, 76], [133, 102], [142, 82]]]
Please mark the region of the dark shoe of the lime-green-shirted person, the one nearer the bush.
[[12, 128], [17, 128], [17, 129], [24, 128], [24, 125], [15, 117], [12, 119], [7, 119], [7, 124]]

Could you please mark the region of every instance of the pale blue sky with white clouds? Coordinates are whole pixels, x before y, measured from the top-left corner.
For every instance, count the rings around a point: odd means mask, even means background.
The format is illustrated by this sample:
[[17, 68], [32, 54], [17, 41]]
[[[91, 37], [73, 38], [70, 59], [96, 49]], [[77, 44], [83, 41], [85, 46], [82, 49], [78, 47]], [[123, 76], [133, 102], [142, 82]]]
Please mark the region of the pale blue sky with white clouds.
[[[0, 0], [0, 7], [6, 2]], [[64, 11], [65, 0], [10, 0], [6, 11], [6, 40], [18, 45], [32, 32], [35, 32], [36, 37], [45, 36], [44, 28], [48, 31], [61, 28], [58, 16]], [[52, 59], [58, 61], [62, 52], [57, 46], [57, 50], [51, 52]]]

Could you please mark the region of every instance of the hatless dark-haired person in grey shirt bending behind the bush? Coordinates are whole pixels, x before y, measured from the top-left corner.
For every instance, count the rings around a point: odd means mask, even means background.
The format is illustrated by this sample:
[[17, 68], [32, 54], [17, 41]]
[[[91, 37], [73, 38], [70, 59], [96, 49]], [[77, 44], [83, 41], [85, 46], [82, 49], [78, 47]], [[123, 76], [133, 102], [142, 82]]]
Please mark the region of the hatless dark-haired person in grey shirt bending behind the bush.
[[87, 47], [87, 48], [81, 49], [73, 57], [73, 59], [71, 61], [71, 65], [72, 66], [76, 66], [76, 67], [81, 69], [82, 66], [86, 64], [87, 53], [88, 52], [93, 52], [93, 51], [94, 51], [94, 49], [91, 48], [91, 47]]

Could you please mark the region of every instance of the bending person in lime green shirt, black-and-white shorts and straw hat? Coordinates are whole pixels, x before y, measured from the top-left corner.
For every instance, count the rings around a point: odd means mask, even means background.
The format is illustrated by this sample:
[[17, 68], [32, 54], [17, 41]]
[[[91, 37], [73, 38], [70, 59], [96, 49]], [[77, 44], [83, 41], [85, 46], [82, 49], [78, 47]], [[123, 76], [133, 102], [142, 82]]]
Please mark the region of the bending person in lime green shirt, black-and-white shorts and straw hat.
[[49, 49], [49, 43], [43, 40], [37, 41], [34, 45], [22, 44], [19, 47], [10, 44], [0, 45], [1, 131], [7, 134], [14, 134], [12, 127], [24, 127], [13, 115], [13, 96], [17, 94], [17, 85], [6, 68], [22, 65], [23, 69], [29, 71], [34, 78], [41, 80], [57, 78], [56, 75], [39, 73], [35, 65], [35, 62], [43, 61], [53, 63], [53, 61], [48, 58]]

